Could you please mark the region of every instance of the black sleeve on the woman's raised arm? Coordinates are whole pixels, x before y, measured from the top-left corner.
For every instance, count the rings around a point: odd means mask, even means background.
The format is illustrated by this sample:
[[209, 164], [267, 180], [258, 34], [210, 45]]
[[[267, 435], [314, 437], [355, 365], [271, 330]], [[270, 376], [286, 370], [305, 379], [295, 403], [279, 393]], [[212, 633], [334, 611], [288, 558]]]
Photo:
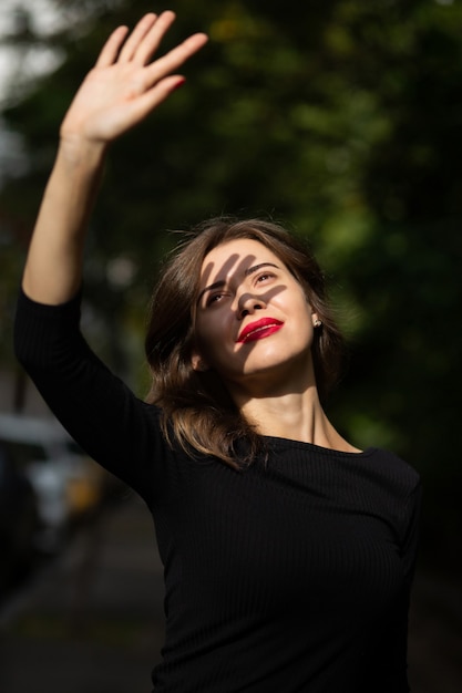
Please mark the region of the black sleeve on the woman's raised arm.
[[80, 331], [80, 294], [44, 306], [21, 291], [14, 349], [79, 445], [151, 504], [168, 455], [158, 411], [138, 400], [90, 349]]

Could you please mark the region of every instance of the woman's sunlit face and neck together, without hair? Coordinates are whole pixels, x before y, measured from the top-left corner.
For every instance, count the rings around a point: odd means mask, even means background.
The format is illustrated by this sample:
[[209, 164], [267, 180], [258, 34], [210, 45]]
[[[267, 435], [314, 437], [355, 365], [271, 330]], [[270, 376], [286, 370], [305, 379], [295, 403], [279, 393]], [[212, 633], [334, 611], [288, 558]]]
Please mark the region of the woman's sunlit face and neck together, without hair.
[[215, 371], [261, 434], [353, 452], [319, 402], [311, 358], [317, 318], [271, 250], [230, 240], [203, 262], [193, 366]]

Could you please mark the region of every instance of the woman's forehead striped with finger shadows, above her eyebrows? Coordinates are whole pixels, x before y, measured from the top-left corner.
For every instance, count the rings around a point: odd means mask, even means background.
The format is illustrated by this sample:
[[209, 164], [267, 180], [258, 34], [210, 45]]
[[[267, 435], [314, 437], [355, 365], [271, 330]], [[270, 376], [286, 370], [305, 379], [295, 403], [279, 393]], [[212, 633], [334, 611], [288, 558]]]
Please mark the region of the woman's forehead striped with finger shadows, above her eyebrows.
[[204, 258], [201, 283], [245, 273], [254, 265], [273, 262], [283, 266], [273, 250], [253, 238], [236, 238], [213, 248]]

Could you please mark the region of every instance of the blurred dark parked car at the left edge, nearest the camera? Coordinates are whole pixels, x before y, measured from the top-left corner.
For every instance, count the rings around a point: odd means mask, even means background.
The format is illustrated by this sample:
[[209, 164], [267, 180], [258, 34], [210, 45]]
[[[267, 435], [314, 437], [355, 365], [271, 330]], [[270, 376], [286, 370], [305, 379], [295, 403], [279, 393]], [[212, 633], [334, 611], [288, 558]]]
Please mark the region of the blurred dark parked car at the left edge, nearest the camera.
[[32, 484], [0, 443], [0, 599], [35, 557], [39, 509]]

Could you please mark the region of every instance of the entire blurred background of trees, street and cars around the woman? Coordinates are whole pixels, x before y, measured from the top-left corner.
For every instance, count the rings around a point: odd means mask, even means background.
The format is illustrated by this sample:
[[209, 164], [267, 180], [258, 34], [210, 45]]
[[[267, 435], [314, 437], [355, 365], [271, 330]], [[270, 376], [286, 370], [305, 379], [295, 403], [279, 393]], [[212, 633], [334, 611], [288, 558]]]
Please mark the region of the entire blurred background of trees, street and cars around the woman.
[[[328, 413], [356, 445], [393, 449], [423, 479], [412, 690], [460, 693], [462, 4], [168, 7], [178, 20], [166, 49], [194, 31], [211, 42], [186, 86], [112, 149], [88, 244], [85, 334], [143, 395], [145, 310], [170, 230], [270, 215], [308, 238], [350, 351]], [[158, 656], [151, 520], [53, 422], [14, 362], [11, 331], [66, 106], [110, 31], [161, 9], [0, 7], [2, 693], [32, 687], [28, 662], [48, 693], [146, 691]]]

